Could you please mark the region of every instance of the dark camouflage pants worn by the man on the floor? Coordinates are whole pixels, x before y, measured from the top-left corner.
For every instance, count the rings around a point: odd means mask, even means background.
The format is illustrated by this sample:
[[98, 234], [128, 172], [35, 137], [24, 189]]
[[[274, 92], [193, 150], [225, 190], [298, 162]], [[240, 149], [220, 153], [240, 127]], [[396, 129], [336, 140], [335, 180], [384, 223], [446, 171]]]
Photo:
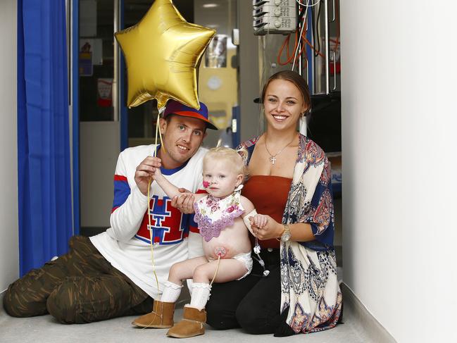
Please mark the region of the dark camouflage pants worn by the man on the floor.
[[148, 313], [153, 299], [101, 256], [89, 238], [70, 239], [70, 252], [13, 282], [4, 308], [15, 317], [50, 313], [61, 323], [91, 323]]

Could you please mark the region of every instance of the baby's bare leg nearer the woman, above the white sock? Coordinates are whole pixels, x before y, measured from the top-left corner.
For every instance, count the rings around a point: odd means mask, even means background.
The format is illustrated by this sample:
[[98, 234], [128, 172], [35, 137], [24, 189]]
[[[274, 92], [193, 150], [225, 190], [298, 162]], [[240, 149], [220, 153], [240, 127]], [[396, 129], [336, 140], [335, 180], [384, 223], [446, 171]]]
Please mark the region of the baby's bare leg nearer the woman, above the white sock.
[[[210, 283], [213, 280], [214, 273], [218, 267], [218, 261], [211, 261], [194, 270], [194, 282]], [[214, 278], [214, 282], [229, 282], [237, 280], [246, 274], [246, 266], [241, 261], [234, 258], [223, 258], [219, 261], [218, 273]]]

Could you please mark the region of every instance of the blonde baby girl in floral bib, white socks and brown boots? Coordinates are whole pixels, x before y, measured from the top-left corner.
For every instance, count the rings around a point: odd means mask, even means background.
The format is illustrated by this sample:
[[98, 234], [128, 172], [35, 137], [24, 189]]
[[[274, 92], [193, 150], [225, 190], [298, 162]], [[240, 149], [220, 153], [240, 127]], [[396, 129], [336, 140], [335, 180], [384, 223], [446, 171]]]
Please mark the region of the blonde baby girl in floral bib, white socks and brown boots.
[[[175, 301], [181, 293], [182, 280], [193, 279], [192, 297], [184, 306], [184, 319], [168, 330], [177, 338], [203, 335], [206, 302], [213, 282], [239, 280], [252, 269], [249, 230], [263, 227], [267, 218], [257, 214], [249, 199], [239, 194], [247, 175], [243, 156], [247, 151], [214, 148], [203, 160], [203, 186], [208, 194], [194, 194], [195, 221], [203, 236], [204, 256], [175, 263], [170, 268], [161, 301], [154, 300], [154, 311], [134, 321], [148, 328], [170, 328], [173, 325]], [[173, 198], [180, 194], [156, 169], [154, 180]]]

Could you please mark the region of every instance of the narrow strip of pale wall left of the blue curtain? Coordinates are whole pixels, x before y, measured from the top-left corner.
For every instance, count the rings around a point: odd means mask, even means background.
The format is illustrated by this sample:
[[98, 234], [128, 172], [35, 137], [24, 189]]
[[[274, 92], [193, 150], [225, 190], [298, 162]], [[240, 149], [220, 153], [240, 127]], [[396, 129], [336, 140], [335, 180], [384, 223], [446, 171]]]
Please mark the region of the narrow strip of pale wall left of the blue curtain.
[[16, 0], [1, 1], [0, 42], [0, 293], [19, 275], [16, 120]]

